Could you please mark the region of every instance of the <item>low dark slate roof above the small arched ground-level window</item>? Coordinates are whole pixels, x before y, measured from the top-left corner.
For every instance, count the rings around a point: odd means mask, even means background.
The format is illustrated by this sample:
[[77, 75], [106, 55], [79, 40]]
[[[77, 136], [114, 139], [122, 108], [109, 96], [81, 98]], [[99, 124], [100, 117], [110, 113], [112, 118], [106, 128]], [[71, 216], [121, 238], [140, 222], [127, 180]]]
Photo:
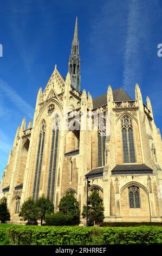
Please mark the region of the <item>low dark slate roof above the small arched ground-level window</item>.
[[146, 164], [116, 164], [112, 174], [143, 174], [152, 173], [152, 169]]

